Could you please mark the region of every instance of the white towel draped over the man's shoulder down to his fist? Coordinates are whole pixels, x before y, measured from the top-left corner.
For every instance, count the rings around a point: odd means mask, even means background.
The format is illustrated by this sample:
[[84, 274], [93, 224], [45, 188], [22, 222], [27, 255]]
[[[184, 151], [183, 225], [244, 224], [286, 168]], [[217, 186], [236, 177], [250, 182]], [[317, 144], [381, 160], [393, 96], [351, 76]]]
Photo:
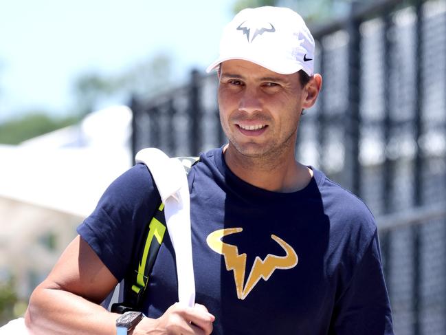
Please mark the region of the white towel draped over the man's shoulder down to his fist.
[[186, 172], [176, 158], [156, 148], [142, 149], [137, 163], [144, 163], [153, 175], [161, 200], [164, 217], [175, 249], [178, 276], [178, 299], [192, 307], [195, 303], [195, 281], [190, 236], [190, 196]]

